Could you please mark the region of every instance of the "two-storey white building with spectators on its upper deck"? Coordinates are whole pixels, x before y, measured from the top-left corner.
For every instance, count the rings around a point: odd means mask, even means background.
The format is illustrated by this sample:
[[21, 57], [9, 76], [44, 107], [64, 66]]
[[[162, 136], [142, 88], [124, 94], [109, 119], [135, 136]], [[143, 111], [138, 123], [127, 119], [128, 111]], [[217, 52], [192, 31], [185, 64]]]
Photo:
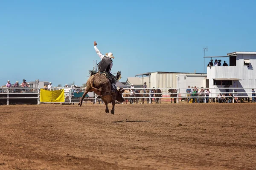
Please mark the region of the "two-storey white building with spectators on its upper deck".
[[[251, 96], [251, 88], [256, 87], [256, 52], [233, 52], [221, 57], [228, 57], [230, 65], [207, 67], [209, 88], [224, 88], [225, 85], [229, 85], [237, 92], [249, 93], [239, 94], [240, 96]], [[229, 90], [229, 92], [232, 91], [232, 89]], [[211, 89], [210, 92], [217, 93], [212, 96], [226, 93], [225, 89]]]

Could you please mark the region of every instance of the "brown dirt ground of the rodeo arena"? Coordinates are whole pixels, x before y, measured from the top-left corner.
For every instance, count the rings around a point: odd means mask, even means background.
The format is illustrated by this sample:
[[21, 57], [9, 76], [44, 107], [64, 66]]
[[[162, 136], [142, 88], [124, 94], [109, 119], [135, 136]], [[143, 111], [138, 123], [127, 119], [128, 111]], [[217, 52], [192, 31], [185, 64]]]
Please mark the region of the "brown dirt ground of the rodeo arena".
[[[111, 108], [111, 105], [109, 105]], [[0, 106], [0, 169], [256, 169], [256, 104]]]

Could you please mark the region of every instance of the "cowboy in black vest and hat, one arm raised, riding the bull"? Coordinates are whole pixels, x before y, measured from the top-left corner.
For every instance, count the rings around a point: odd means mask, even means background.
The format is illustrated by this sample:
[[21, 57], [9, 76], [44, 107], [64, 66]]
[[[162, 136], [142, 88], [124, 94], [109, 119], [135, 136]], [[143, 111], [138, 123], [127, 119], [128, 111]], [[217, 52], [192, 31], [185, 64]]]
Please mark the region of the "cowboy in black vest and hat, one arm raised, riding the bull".
[[106, 72], [108, 74], [108, 77], [112, 78], [109, 79], [111, 82], [111, 90], [114, 91], [116, 89], [116, 80], [113, 78], [113, 74], [111, 74], [111, 68], [113, 66], [113, 60], [115, 57], [113, 57], [113, 54], [111, 52], [106, 53], [105, 55], [101, 54], [99, 49], [97, 48], [97, 42], [94, 41], [94, 49], [98, 56], [101, 59], [101, 62], [99, 62], [99, 71], [100, 72]]

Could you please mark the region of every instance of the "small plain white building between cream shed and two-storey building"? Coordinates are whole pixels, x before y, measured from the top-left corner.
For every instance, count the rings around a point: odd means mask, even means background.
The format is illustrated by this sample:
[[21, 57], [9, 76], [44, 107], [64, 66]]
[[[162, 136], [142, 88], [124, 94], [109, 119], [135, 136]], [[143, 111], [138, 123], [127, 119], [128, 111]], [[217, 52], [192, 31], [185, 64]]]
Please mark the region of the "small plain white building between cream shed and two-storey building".
[[[194, 86], [206, 88], [205, 79], [207, 79], [207, 74], [179, 74], [177, 75], [177, 89], [188, 88], [188, 86], [190, 88]], [[186, 89], [180, 89], [179, 93], [186, 93]], [[186, 96], [186, 94], [181, 96]]]

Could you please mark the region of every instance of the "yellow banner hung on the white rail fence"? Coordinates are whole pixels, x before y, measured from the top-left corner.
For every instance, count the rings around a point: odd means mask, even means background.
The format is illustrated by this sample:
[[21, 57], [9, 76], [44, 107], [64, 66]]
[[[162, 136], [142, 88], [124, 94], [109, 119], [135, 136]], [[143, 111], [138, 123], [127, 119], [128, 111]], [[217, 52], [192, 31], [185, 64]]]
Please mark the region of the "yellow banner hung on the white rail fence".
[[56, 91], [41, 89], [40, 102], [65, 102], [64, 89]]

